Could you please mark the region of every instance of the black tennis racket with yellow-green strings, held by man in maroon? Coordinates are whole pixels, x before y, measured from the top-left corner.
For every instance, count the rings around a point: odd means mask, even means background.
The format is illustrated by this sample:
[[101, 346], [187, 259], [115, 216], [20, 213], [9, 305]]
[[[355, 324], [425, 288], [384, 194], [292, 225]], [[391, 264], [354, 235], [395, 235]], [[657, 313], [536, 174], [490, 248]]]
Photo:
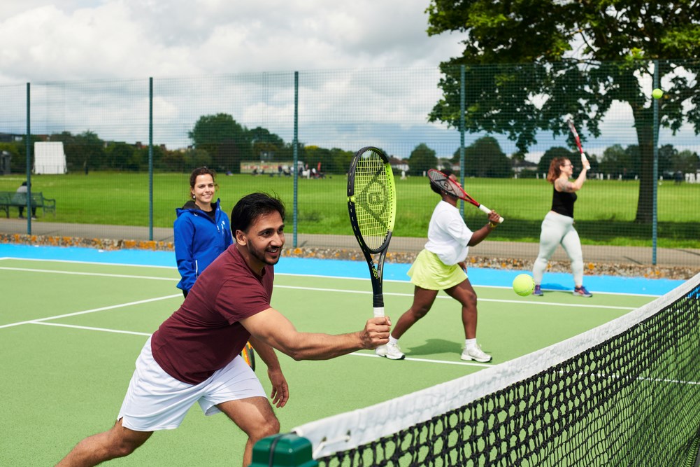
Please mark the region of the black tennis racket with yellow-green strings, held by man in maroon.
[[[396, 217], [396, 188], [389, 159], [376, 147], [363, 147], [355, 153], [348, 175], [348, 211], [357, 243], [370, 266], [374, 316], [384, 316], [382, 278]], [[376, 261], [373, 255], [379, 255]], [[377, 347], [386, 356], [386, 346]]]

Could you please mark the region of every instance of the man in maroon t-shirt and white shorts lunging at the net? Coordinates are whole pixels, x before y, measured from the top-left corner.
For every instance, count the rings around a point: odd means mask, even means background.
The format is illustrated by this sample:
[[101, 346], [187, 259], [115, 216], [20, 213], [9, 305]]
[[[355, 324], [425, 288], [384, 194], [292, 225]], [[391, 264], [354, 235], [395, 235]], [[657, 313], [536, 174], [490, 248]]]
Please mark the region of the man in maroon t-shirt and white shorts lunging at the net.
[[286, 405], [289, 391], [274, 348], [295, 360], [325, 360], [386, 344], [391, 323], [385, 317], [367, 320], [358, 332], [330, 335], [298, 332], [271, 308], [274, 264], [284, 245], [279, 199], [244, 196], [231, 220], [235, 243], [146, 341], [116, 424], [80, 441], [59, 466], [127, 456], [153, 431], [177, 428], [195, 402], [207, 415], [225, 413], [248, 435], [243, 456], [248, 466], [255, 442], [279, 432], [260, 381], [239, 356], [248, 339], [267, 365], [276, 407]]

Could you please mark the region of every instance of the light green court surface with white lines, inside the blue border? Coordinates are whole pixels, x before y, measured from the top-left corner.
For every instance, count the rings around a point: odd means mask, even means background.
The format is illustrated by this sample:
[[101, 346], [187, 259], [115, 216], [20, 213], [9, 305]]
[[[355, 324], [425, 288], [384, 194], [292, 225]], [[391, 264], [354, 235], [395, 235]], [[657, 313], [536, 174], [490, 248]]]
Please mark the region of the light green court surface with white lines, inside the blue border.
[[[141, 346], [181, 304], [174, 268], [0, 259], [0, 465], [48, 466], [116, 419]], [[353, 332], [372, 315], [369, 280], [277, 274], [272, 306], [298, 330]], [[391, 318], [412, 301], [412, 285], [386, 282]], [[401, 339], [406, 360], [360, 351], [328, 361], [281, 356], [290, 386], [276, 409], [281, 431], [512, 360], [622, 316], [654, 297], [570, 292], [518, 297], [475, 287], [479, 344], [493, 363], [465, 363], [459, 308], [440, 295]], [[264, 365], [256, 373], [269, 392]], [[155, 433], [113, 465], [240, 465], [245, 437], [223, 414], [195, 405], [180, 428]]]

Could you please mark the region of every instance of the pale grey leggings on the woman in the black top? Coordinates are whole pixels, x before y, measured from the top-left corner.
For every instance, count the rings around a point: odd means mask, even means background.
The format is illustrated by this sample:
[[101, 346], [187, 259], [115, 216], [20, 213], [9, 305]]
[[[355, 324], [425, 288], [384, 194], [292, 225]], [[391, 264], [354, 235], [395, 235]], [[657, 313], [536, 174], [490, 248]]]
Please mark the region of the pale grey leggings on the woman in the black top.
[[532, 268], [535, 284], [542, 283], [542, 274], [547, 269], [549, 258], [552, 257], [554, 250], [560, 243], [571, 259], [574, 285], [580, 287], [583, 285], [583, 253], [581, 252], [580, 238], [578, 238], [576, 229], [573, 228], [573, 219], [554, 211], [547, 212], [545, 220], [542, 221], [540, 252]]

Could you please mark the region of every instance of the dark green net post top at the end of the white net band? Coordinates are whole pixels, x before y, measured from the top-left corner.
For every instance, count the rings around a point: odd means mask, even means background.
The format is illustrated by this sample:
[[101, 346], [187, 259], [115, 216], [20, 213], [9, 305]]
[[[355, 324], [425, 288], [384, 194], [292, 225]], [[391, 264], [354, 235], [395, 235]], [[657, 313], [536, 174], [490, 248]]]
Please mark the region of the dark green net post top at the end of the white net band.
[[306, 438], [286, 433], [268, 436], [253, 446], [250, 467], [317, 467], [311, 456], [311, 442]]

